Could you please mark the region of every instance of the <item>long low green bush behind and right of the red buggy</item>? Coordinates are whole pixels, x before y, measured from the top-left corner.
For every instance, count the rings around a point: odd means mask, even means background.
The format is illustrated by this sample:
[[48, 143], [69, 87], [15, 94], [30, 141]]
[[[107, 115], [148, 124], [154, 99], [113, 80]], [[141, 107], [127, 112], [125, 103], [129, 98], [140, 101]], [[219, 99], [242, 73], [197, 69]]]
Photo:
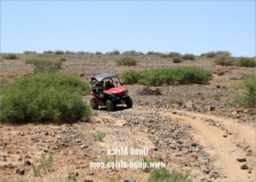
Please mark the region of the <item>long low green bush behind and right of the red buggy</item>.
[[162, 84], [206, 83], [213, 78], [212, 73], [198, 67], [178, 67], [176, 69], [144, 69], [126, 71], [122, 74], [124, 82], [159, 86]]

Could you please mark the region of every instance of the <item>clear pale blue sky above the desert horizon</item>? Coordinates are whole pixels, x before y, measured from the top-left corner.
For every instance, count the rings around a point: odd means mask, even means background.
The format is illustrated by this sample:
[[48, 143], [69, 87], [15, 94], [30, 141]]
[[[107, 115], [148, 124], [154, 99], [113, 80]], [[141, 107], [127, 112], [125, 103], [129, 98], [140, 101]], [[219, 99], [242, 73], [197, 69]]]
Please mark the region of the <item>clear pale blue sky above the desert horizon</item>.
[[2, 1], [1, 52], [255, 56], [255, 1]]

